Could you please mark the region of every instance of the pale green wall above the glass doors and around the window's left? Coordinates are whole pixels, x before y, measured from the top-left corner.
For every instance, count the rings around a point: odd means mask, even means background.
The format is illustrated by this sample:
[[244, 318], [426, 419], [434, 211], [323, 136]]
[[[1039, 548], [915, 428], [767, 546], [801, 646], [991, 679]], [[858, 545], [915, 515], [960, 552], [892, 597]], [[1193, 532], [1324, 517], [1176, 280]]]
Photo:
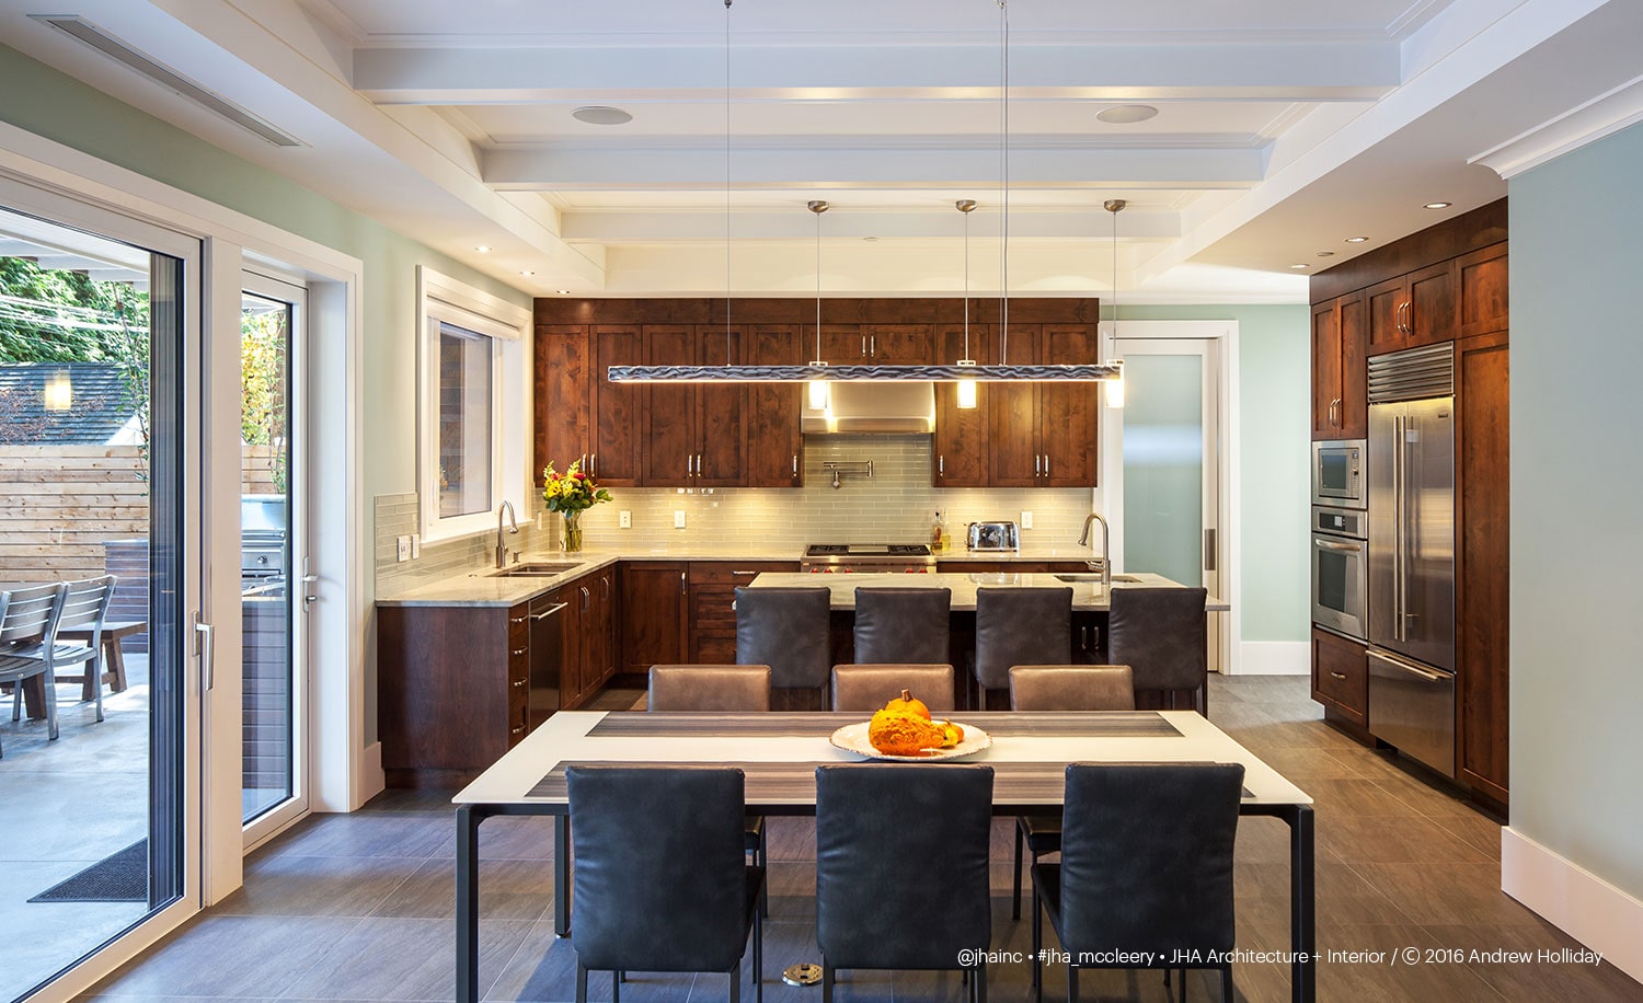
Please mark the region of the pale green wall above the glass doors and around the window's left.
[[524, 309], [529, 295], [5, 46], [0, 95], [0, 120], [361, 259], [363, 488], [416, 489], [416, 266]]

